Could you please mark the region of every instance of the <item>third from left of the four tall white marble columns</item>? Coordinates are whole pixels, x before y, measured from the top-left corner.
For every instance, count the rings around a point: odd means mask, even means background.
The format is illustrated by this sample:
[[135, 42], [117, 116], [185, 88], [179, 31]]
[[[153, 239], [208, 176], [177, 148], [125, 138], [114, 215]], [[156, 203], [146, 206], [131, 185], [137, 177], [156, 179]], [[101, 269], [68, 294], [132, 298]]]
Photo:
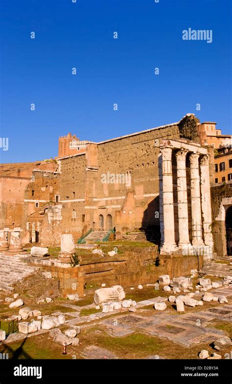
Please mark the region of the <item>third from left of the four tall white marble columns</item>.
[[192, 245], [204, 246], [202, 240], [199, 154], [191, 154], [189, 160], [191, 179]]

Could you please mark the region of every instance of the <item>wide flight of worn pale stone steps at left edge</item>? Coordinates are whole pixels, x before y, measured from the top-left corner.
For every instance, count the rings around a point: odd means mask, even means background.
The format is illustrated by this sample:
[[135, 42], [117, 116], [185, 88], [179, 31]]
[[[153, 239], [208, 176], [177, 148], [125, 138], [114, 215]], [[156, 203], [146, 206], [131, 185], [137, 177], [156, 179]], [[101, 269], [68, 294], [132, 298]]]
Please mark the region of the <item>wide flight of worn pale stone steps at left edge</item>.
[[39, 269], [38, 267], [27, 265], [22, 260], [22, 256], [0, 254], [0, 290], [13, 290], [13, 284]]

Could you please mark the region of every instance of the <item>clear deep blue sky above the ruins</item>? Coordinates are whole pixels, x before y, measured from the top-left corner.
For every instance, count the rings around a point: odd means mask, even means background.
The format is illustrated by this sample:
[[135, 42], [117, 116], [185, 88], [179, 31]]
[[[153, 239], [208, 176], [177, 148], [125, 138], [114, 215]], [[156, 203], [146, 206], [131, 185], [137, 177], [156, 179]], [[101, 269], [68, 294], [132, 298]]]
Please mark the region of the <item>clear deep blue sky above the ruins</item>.
[[[69, 131], [102, 141], [189, 112], [232, 133], [231, 7], [231, 0], [0, 0], [0, 135], [9, 138], [0, 162], [54, 157]], [[184, 41], [189, 27], [211, 29], [212, 43]]]

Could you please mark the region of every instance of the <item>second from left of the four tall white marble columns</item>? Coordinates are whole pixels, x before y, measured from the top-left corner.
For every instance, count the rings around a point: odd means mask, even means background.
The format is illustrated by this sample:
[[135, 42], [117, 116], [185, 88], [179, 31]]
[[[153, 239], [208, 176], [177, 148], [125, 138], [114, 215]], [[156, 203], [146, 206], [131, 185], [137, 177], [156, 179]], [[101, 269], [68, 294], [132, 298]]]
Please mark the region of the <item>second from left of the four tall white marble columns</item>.
[[179, 249], [191, 247], [188, 233], [188, 206], [187, 206], [187, 183], [186, 183], [186, 149], [176, 153], [177, 161], [177, 199], [178, 199], [178, 221], [179, 221]]

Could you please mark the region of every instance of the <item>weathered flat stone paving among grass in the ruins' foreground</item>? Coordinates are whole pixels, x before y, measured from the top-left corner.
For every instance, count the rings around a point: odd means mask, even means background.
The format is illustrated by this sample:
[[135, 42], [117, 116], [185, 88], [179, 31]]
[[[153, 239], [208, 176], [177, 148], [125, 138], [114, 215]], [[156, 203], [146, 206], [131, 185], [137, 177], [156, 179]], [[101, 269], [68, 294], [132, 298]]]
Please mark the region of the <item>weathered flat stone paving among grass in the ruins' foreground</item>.
[[[230, 296], [232, 295], [232, 285], [220, 289], [214, 289], [212, 291], [215, 292], [217, 296], [219, 294]], [[137, 309], [149, 305], [154, 306], [154, 303], [164, 302], [166, 300], [166, 298], [162, 297], [143, 300], [137, 303]], [[209, 322], [211, 320], [219, 319], [223, 321], [232, 321], [232, 305], [225, 304], [220, 304], [217, 307], [212, 307], [207, 310], [182, 315], [173, 315], [173, 312], [171, 312], [170, 309], [166, 309], [165, 311], [155, 311], [154, 309], [154, 315], [148, 317], [142, 316], [142, 309], [140, 309], [139, 314], [134, 314], [128, 312], [128, 308], [122, 308], [121, 310], [115, 310], [114, 312], [109, 313], [97, 312], [88, 316], [80, 317], [79, 314], [81, 309], [94, 308], [95, 305], [91, 304], [79, 307], [76, 305], [65, 304], [65, 307], [75, 309], [74, 312], [64, 313], [73, 317], [67, 321], [67, 325], [80, 325], [86, 322], [91, 323], [94, 320], [99, 320], [98, 324], [104, 325], [107, 332], [113, 337], [121, 337], [135, 332], [144, 332], [153, 336], [166, 337], [167, 339], [186, 347], [202, 342], [210, 343], [225, 334], [223, 331], [210, 328]], [[144, 311], [146, 311], [146, 309], [144, 309]], [[55, 315], [60, 313], [61, 312], [54, 312]], [[104, 317], [112, 314], [115, 316], [104, 319]], [[88, 325], [85, 325], [84, 327], [86, 326]], [[23, 333], [13, 333], [7, 337], [4, 343], [7, 344], [9, 342], [22, 340], [26, 337], [46, 332], [48, 331], [40, 330], [36, 333], [30, 333], [28, 335]], [[91, 347], [96, 348], [95, 346]], [[99, 356], [99, 354], [102, 353], [102, 351], [98, 351], [98, 353], [94, 348], [87, 350], [85, 358], [93, 358], [89, 356], [94, 354]], [[109, 352], [107, 352], [106, 355], [109, 358]]]

